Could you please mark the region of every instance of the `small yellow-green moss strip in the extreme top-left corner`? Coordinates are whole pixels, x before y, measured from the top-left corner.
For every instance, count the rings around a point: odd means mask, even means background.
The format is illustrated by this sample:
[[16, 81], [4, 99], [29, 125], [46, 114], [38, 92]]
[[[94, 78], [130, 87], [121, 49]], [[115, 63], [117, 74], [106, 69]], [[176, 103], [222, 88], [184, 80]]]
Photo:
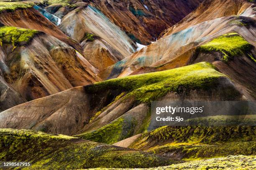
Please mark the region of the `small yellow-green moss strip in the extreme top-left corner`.
[[17, 9], [26, 9], [33, 7], [32, 2], [0, 2], [0, 12], [5, 10], [14, 11]]

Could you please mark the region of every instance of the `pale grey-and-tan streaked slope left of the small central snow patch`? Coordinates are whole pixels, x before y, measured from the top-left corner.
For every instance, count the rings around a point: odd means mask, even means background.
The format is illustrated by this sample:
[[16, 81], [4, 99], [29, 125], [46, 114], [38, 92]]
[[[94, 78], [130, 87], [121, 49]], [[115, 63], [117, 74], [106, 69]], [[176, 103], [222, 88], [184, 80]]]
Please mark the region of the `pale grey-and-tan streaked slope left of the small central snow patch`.
[[110, 53], [119, 59], [135, 52], [135, 44], [125, 32], [121, 31], [105, 15], [90, 5], [78, 7], [65, 15], [62, 18], [60, 28], [78, 42], [82, 42], [88, 33], [101, 37], [108, 45], [113, 47], [113, 49], [107, 48]]

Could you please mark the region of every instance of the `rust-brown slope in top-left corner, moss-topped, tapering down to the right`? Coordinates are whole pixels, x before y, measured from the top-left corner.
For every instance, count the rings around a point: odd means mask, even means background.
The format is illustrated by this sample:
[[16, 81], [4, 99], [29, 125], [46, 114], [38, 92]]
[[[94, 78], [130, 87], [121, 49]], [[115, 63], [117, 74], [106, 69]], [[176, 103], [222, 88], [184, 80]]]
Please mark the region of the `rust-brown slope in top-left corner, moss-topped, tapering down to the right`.
[[56, 25], [35, 10], [33, 5], [31, 2], [0, 2], [0, 23], [45, 32], [82, 52], [77, 42], [67, 37]]

